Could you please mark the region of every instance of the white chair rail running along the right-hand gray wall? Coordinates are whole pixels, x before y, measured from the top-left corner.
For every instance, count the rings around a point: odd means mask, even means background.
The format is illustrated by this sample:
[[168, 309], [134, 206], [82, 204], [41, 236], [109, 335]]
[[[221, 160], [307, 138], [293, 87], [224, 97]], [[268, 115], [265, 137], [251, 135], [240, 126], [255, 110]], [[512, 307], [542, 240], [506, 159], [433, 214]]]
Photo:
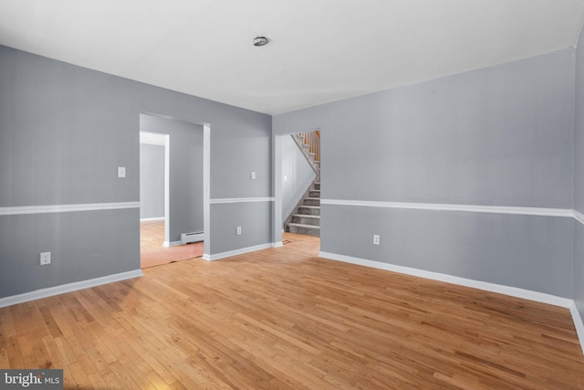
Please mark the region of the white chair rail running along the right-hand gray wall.
[[523, 215], [523, 216], [575, 217], [574, 210], [568, 209], [568, 208], [450, 205], [450, 204], [440, 204], [440, 203], [378, 202], [378, 201], [339, 200], [339, 199], [321, 199], [320, 204], [321, 205], [334, 205], [334, 206], [408, 208], [408, 209], [416, 209], [416, 210], [433, 210], [433, 211], [466, 211], [466, 212], [471, 212], [471, 213], [518, 214], [518, 215]]

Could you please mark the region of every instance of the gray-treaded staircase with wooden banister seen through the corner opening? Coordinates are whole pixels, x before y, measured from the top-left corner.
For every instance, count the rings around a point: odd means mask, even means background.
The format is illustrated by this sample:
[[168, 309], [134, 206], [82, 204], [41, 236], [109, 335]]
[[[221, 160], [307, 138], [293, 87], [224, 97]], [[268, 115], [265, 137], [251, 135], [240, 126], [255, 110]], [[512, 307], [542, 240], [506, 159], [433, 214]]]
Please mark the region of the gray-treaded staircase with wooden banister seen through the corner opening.
[[290, 233], [320, 237], [320, 134], [303, 132], [292, 138], [317, 174], [292, 214], [288, 216], [285, 230]]

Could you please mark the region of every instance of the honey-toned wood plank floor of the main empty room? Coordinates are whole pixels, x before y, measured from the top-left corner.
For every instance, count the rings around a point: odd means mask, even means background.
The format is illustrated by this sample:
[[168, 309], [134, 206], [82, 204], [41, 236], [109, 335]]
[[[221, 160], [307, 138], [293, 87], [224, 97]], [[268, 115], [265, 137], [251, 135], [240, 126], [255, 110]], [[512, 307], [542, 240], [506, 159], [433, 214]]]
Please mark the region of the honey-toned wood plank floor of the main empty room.
[[584, 388], [566, 309], [285, 242], [0, 309], [0, 367], [84, 389]]

